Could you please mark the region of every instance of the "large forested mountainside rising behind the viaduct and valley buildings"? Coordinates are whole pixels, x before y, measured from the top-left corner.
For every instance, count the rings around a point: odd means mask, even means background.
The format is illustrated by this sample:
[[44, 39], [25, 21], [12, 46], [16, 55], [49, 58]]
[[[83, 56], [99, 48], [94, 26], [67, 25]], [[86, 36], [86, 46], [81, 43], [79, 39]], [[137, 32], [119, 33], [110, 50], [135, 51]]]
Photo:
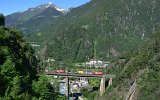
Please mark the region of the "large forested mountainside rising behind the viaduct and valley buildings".
[[41, 44], [40, 55], [56, 61], [108, 60], [139, 48], [157, 31], [159, 5], [158, 0], [91, 0], [50, 24], [36, 22], [27, 38]]

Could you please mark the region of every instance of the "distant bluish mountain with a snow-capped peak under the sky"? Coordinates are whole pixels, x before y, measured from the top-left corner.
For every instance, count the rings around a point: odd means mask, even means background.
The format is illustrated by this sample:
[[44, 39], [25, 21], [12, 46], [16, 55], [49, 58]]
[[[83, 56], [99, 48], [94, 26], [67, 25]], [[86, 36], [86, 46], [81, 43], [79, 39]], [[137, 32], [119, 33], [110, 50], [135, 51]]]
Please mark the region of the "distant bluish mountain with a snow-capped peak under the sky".
[[23, 33], [30, 34], [41, 29], [44, 24], [51, 25], [55, 18], [64, 16], [67, 12], [68, 9], [49, 2], [6, 16], [6, 26], [20, 28]]

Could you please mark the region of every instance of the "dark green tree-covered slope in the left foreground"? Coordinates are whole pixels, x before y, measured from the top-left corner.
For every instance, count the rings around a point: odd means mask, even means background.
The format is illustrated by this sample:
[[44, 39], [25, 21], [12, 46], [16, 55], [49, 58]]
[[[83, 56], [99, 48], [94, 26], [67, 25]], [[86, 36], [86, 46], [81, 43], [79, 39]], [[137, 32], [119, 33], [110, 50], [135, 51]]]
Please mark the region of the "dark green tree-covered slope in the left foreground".
[[4, 27], [0, 15], [0, 100], [54, 100], [54, 88], [40, 76], [38, 60], [20, 31]]

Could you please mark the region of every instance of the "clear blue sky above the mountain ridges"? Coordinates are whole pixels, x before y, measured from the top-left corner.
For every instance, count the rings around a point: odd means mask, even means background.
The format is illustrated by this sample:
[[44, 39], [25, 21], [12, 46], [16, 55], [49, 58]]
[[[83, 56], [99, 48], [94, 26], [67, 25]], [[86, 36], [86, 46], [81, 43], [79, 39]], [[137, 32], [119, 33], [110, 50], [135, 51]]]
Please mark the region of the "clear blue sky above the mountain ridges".
[[52, 2], [62, 8], [78, 7], [90, 0], [1, 0], [0, 13], [4, 15], [12, 14], [18, 11], [25, 11], [28, 8]]

